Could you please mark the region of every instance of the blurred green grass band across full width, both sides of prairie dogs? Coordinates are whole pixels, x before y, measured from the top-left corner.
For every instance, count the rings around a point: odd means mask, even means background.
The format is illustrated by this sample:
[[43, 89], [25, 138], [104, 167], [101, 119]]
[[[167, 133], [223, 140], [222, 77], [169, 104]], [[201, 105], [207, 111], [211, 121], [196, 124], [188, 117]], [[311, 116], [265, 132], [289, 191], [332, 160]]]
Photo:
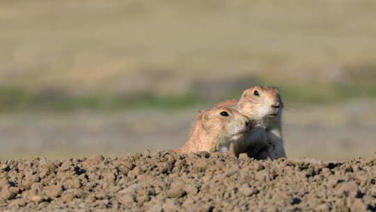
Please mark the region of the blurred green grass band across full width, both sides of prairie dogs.
[[[338, 103], [354, 98], [376, 98], [373, 84], [334, 84], [333, 86], [279, 86], [285, 103]], [[239, 98], [242, 90], [230, 90], [218, 100]], [[113, 111], [121, 109], [184, 109], [195, 105], [215, 104], [198, 92], [157, 96], [153, 93], [96, 93], [69, 96], [64, 93], [36, 93], [17, 87], [0, 87], [0, 112], [54, 111], [71, 112], [81, 109]]]

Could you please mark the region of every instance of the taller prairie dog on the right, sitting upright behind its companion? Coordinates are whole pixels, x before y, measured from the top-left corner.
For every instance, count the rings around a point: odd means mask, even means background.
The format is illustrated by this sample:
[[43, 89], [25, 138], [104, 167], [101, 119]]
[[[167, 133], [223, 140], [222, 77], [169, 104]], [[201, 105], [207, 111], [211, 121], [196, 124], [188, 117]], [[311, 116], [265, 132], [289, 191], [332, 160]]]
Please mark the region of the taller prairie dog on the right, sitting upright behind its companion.
[[216, 107], [233, 107], [256, 121], [241, 142], [230, 146], [236, 155], [248, 153], [258, 159], [286, 156], [282, 137], [283, 103], [276, 87], [253, 86], [242, 93], [240, 100], [226, 100]]

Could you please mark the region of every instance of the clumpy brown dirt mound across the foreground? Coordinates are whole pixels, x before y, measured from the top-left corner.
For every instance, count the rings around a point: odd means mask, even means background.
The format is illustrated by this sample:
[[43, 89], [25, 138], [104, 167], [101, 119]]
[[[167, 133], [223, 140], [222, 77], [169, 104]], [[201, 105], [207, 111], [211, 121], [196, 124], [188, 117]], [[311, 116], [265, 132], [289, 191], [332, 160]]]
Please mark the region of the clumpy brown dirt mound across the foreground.
[[223, 153], [0, 162], [0, 211], [376, 211], [376, 157], [253, 160]]

